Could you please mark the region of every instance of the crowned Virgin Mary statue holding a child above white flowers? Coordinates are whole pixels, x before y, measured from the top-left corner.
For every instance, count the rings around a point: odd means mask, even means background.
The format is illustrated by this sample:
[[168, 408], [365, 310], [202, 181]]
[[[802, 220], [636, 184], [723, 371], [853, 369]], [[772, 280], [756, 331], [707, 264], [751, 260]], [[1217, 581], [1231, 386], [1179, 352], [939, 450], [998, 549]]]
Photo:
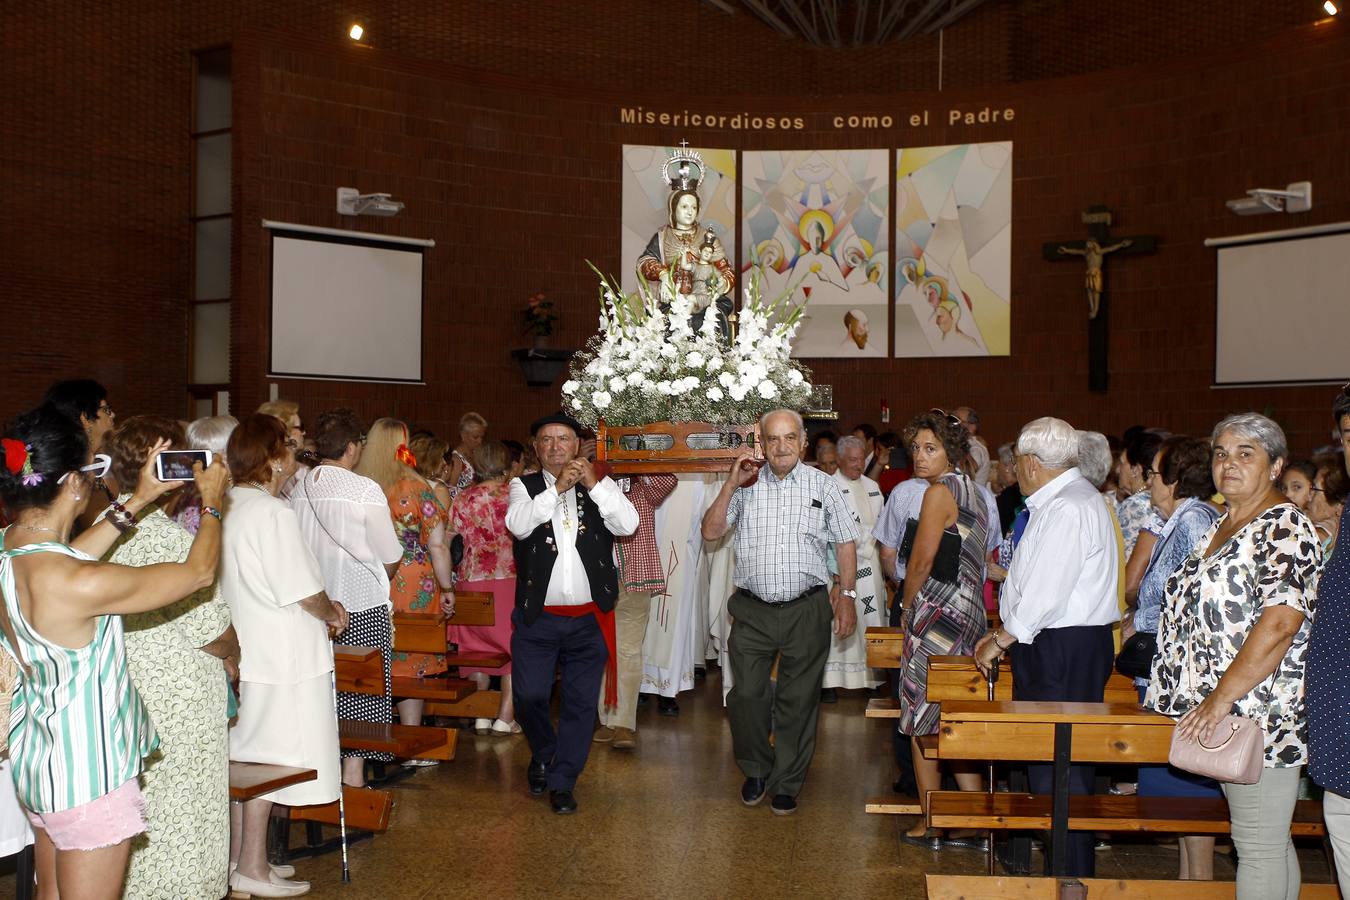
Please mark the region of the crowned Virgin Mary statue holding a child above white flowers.
[[726, 259], [721, 239], [711, 228], [699, 229], [701, 202], [698, 185], [703, 179], [703, 161], [697, 151], [679, 150], [666, 162], [666, 181], [671, 196], [666, 202], [667, 224], [662, 225], [637, 258], [637, 271], [648, 282], [660, 282], [671, 273], [675, 290], [693, 298], [690, 327], [703, 325], [709, 308], [718, 317], [718, 331], [730, 339], [729, 317], [734, 309], [732, 290], [736, 271]]

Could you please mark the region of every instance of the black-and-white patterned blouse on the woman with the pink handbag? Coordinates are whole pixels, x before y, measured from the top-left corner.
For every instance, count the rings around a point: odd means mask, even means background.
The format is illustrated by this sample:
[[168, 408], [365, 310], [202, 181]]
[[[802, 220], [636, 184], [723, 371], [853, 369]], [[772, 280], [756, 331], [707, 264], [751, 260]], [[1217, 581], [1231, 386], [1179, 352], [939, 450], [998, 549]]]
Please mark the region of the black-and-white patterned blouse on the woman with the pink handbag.
[[1234, 703], [1234, 712], [1265, 730], [1265, 768], [1303, 765], [1308, 757], [1303, 671], [1322, 569], [1312, 521], [1280, 503], [1246, 524], [1206, 556], [1227, 517], [1219, 518], [1168, 579], [1158, 625], [1158, 654], [1143, 706], [1180, 716], [1218, 687], [1272, 606], [1303, 614], [1303, 625], [1272, 677]]

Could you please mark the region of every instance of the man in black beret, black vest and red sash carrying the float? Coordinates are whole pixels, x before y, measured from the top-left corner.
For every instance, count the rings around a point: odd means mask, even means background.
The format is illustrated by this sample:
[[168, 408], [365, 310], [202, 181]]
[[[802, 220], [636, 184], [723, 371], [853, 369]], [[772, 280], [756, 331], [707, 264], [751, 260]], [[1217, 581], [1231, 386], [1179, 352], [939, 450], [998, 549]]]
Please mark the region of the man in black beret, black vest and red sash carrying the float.
[[[516, 536], [510, 640], [516, 721], [529, 741], [531, 793], [554, 812], [576, 811], [572, 789], [590, 753], [606, 665], [614, 685], [614, 537], [637, 530], [637, 510], [578, 456], [582, 426], [545, 416], [529, 428], [543, 471], [512, 479], [506, 528]], [[558, 729], [548, 703], [562, 664]]]

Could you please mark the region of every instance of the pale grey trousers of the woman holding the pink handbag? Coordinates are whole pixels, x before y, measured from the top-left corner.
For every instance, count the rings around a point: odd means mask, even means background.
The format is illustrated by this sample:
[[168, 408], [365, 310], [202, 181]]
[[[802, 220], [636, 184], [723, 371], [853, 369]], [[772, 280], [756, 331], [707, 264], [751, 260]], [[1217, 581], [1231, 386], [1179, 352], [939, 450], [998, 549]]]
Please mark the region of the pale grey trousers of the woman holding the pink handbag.
[[1299, 900], [1299, 854], [1289, 824], [1303, 768], [1261, 769], [1256, 784], [1224, 784], [1238, 850], [1237, 900]]

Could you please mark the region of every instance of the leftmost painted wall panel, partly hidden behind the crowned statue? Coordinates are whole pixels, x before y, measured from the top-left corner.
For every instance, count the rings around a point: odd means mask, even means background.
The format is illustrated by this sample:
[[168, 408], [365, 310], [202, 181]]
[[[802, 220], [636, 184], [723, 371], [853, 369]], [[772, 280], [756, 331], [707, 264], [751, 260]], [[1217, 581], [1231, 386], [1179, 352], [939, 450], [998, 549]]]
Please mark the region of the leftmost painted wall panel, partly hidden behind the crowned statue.
[[[624, 144], [624, 223], [620, 237], [622, 252], [620, 283], [625, 293], [637, 290], [637, 258], [662, 228], [670, 224], [667, 204], [671, 186], [664, 167], [680, 147]], [[698, 228], [711, 228], [728, 254], [736, 252], [736, 151], [690, 147], [706, 166], [698, 186]], [[734, 259], [732, 260], [734, 263]], [[606, 273], [609, 274], [609, 273]]]

